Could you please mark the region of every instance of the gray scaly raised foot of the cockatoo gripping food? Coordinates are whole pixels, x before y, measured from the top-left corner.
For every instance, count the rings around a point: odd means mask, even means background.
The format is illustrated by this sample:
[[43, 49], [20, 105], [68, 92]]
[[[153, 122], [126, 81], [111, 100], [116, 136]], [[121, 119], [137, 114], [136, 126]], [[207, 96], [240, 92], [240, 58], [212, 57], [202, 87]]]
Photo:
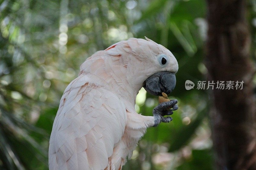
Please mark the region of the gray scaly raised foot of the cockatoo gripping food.
[[[178, 109], [178, 100], [170, 100], [163, 103], [159, 103], [154, 109], [153, 109], [153, 116], [155, 118], [155, 125], [154, 127], [158, 126], [160, 122], [171, 122], [172, 118], [167, 116], [164, 117], [164, 115], [172, 115], [174, 110]], [[170, 110], [165, 110], [168, 107], [172, 107]]]

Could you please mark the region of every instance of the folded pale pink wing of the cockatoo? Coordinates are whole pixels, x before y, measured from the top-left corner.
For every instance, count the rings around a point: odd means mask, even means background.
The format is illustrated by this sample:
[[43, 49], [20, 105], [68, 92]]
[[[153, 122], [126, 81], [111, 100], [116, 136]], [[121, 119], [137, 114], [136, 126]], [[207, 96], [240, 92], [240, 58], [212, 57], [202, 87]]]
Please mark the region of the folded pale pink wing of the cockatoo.
[[106, 168], [126, 120], [124, 103], [115, 94], [80, 75], [61, 98], [50, 139], [49, 168]]

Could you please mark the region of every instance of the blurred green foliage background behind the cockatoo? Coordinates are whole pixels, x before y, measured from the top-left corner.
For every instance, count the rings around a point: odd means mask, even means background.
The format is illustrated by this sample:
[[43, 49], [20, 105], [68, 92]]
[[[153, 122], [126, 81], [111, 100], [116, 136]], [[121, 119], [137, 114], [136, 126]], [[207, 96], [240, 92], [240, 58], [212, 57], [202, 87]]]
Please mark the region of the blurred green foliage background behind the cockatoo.
[[[255, 53], [256, 1], [248, 1]], [[213, 169], [205, 80], [203, 0], [0, 0], [0, 169], [48, 169], [53, 120], [66, 86], [98, 50], [144, 38], [164, 45], [179, 71], [171, 123], [149, 128], [123, 169]], [[141, 89], [136, 111], [152, 115], [158, 98]]]

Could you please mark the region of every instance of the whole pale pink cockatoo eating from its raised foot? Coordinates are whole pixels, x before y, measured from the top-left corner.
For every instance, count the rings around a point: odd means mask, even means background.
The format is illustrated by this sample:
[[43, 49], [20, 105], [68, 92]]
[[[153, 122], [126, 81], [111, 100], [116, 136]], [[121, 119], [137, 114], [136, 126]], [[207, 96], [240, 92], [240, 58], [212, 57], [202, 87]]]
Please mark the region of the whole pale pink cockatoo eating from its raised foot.
[[87, 58], [60, 100], [50, 170], [122, 169], [146, 129], [170, 122], [164, 115], [178, 108], [171, 100], [156, 106], [153, 116], [140, 115], [136, 95], [141, 87], [153, 95], [170, 93], [177, 71], [172, 53], [148, 38], [120, 41]]

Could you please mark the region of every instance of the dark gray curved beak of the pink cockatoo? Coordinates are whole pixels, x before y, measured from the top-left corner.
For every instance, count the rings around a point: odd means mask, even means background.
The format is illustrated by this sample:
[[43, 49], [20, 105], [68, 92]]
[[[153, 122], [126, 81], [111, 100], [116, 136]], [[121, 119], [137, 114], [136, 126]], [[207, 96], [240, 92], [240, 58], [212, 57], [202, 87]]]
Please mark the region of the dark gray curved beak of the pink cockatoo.
[[168, 71], [161, 71], [151, 75], [144, 82], [144, 89], [152, 95], [160, 96], [162, 92], [169, 94], [176, 85], [175, 74]]

